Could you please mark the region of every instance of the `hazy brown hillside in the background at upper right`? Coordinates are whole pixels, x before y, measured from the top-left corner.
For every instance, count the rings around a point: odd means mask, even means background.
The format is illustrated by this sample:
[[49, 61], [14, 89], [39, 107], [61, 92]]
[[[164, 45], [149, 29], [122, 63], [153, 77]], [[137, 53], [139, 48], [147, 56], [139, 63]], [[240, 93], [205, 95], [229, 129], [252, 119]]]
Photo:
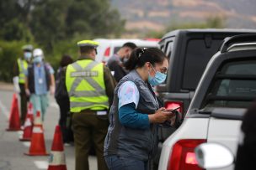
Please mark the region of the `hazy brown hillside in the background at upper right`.
[[111, 0], [127, 30], [160, 31], [177, 23], [219, 17], [226, 28], [256, 28], [255, 0]]

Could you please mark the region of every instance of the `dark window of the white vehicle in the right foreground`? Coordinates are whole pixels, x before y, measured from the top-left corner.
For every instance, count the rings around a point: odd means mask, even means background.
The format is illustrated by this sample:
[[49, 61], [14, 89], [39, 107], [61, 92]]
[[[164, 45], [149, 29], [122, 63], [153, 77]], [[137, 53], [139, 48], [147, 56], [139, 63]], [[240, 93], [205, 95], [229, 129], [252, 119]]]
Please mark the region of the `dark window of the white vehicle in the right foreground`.
[[248, 107], [256, 98], [256, 60], [232, 61], [215, 75], [206, 106]]

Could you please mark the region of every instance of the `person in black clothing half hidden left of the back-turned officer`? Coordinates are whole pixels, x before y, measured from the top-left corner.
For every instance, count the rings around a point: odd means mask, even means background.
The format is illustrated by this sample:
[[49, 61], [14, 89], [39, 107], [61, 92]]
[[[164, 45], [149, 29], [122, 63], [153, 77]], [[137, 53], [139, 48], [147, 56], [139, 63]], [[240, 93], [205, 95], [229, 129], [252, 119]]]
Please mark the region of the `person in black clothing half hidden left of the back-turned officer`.
[[59, 125], [61, 126], [61, 132], [63, 137], [62, 139], [64, 143], [73, 142], [73, 133], [70, 126], [67, 126], [67, 116], [69, 114], [70, 104], [65, 80], [62, 79], [62, 72], [68, 64], [72, 63], [73, 59], [71, 58], [71, 56], [64, 54], [61, 58], [60, 67], [56, 71], [55, 99], [60, 107]]

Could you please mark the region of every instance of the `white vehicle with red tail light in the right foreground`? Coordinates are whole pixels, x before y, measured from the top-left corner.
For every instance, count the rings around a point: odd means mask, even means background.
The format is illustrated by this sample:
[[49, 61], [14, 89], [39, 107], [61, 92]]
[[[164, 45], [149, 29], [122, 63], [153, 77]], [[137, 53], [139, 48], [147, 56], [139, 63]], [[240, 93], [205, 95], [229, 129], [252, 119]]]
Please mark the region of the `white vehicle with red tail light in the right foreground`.
[[183, 124], [163, 143], [158, 169], [201, 169], [194, 149], [204, 142], [236, 153], [243, 114], [256, 97], [255, 68], [256, 34], [224, 41], [205, 68]]

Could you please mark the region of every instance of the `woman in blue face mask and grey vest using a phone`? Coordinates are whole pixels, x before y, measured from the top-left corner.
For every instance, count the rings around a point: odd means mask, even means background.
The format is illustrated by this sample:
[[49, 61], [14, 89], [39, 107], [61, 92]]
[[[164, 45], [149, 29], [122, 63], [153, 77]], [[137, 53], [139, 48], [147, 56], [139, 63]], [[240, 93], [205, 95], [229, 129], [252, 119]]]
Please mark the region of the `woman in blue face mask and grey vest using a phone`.
[[131, 72], [115, 88], [104, 157], [110, 170], [146, 170], [157, 150], [157, 123], [173, 117], [152, 90], [166, 79], [168, 59], [160, 49], [138, 48], [125, 68]]

